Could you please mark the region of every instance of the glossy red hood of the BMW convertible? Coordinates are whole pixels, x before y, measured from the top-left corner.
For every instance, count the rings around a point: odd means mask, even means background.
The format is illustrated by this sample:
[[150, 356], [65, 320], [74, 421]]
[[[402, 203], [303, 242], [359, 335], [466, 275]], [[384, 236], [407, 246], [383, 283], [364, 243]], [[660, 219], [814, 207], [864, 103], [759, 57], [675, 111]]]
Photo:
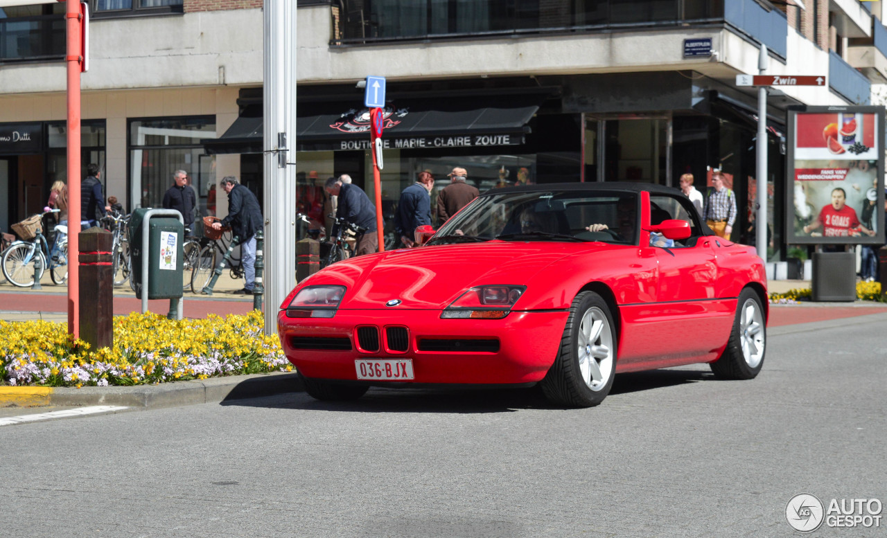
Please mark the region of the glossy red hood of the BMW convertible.
[[554, 261], [602, 248], [594, 243], [500, 242], [423, 246], [334, 263], [306, 285], [348, 288], [339, 308], [442, 309], [475, 285], [523, 285]]

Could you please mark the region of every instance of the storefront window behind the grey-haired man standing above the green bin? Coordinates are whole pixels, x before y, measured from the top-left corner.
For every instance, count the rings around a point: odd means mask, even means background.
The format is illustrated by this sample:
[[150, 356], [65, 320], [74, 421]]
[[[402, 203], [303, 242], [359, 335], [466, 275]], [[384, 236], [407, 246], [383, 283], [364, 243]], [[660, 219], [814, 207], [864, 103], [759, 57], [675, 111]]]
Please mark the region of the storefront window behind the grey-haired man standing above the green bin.
[[210, 194], [216, 190], [216, 157], [203, 152], [200, 138], [216, 136], [214, 116], [130, 120], [129, 134], [130, 209], [161, 207], [173, 174], [184, 170], [201, 213], [210, 212], [217, 197]]

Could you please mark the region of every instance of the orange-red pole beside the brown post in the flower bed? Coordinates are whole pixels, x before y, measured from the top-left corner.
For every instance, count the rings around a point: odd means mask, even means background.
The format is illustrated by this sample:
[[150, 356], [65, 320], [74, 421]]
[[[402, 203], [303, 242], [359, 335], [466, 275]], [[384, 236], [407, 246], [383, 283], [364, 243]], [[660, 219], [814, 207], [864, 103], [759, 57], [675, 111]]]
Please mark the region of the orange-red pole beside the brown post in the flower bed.
[[80, 338], [80, 0], [65, 4], [67, 45], [67, 333]]

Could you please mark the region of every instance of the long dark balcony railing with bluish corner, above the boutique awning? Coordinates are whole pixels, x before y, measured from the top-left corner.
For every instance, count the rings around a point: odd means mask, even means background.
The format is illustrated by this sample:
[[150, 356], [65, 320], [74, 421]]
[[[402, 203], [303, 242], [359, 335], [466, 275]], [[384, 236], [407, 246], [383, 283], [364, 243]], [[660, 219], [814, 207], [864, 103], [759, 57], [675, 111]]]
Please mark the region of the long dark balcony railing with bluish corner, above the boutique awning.
[[338, 4], [333, 10], [337, 45], [728, 24], [784, 58], [789, 27], [781, 11], [767, 11], [756, 0], [338, 0]]

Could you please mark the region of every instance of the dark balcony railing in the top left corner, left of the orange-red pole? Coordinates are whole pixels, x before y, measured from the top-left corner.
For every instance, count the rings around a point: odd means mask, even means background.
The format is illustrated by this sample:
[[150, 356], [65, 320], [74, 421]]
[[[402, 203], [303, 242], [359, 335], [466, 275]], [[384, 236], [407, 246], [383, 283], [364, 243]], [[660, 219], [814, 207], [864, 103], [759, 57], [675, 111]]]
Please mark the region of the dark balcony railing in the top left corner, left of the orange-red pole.
[[65, 58], [63, 15], [0, 19], [0, 63]]

